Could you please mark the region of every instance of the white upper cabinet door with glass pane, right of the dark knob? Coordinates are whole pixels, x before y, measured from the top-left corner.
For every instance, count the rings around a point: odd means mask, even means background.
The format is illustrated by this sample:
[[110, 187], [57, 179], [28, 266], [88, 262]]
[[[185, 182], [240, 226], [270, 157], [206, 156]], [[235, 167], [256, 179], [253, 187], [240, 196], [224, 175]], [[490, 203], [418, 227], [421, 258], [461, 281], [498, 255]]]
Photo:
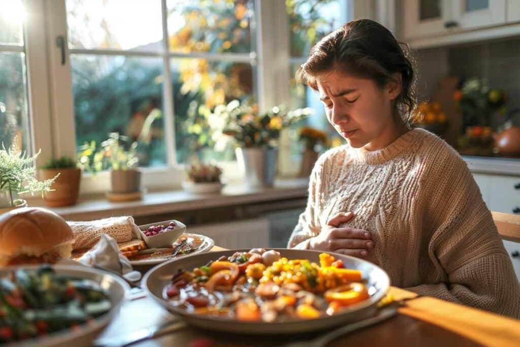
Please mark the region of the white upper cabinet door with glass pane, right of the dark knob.
[[453, 0], [451, 20], [462, 30], [505, 23], [506, 0]]

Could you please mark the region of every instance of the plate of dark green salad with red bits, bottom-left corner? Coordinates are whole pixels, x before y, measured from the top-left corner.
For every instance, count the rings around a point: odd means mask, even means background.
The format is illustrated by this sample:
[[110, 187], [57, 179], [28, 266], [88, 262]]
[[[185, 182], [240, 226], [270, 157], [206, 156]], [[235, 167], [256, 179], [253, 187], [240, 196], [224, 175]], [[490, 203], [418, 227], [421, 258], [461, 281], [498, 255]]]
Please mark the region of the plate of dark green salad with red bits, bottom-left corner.
[[89, 346], [119, 311], [128, 284], [77, 265], [0, 269], [0, 344]]

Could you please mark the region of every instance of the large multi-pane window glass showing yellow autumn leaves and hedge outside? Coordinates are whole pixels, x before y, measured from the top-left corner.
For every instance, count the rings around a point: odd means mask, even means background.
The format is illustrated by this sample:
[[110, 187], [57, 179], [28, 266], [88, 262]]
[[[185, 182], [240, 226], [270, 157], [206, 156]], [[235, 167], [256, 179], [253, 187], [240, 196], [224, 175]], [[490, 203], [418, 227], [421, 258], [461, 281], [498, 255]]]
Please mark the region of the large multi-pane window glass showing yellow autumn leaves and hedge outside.
[[140, 166], [223, 159], [204, 111], [252, 97], [252, 19], [246, 0], [67, 0], [76, 146], [119, 132]]

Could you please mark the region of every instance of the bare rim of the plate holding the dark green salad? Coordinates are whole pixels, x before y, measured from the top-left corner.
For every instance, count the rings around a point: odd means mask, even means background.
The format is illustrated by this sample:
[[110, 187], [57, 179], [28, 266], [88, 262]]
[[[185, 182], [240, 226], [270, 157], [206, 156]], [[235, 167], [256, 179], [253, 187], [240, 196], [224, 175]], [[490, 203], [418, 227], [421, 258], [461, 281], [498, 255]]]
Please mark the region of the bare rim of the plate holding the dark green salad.
[[[17, 268], [26, 270], [35, 270], [38, 265], [12, 266], [0, 269], [0, 277], [10, 274]], [[92, 267], [83, 265], [53, 265], [53, 269], [60, 275], [66, 275], [75, 278], [85, 278], [98, 283], [102, 289], [108, 291], [108, 296], [112, 302], [112, 308], [109, 312], [94, 319], [93, 322], [83, 324], [79, 329], [63, 329], [43, 338], [33, 338], [8, 344], [11, 347], [48, 347], [48, 346], [90, 346], [95, 337], [99, 335], [101, 330], [107, 326], [112, 316], [117, 313], [125, 299], [125, 295], [130, 290], [130, 286], [120, 277], [114, 276], [108, 272], [101, 271]]]

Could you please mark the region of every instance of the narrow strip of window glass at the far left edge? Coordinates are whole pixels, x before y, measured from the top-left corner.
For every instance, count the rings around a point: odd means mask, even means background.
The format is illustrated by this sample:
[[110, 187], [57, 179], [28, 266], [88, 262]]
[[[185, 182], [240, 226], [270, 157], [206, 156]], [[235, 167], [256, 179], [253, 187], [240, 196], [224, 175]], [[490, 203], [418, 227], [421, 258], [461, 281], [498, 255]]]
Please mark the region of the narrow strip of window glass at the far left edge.
[[0, 3], [0, 142], [31, 152], [21, 0]]

